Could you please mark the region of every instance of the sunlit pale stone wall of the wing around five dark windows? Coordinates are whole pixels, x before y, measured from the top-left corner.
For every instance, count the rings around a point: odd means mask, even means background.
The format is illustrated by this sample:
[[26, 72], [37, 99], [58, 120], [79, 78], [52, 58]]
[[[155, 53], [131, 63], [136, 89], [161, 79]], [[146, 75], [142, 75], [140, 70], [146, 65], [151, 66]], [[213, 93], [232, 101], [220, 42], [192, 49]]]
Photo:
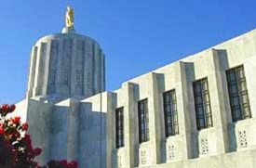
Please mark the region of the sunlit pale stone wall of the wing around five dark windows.
[[[255, 155], [255, 75], [256, 31], [236, 37], [158, 70], [122, 84], [113, 92], [112, 166], [113, 167], [209, 167], [237, 166], [245, 151]], [[251, 118], [234, 123], [226, 81], [226, 71], [243, 65]], [[207, 78], [213, 126], [196, 128], [193, 83]], [[175, 89], [179, 118], [179, 135], [165, 136], [163, 93]], [[138, 102], [148, 100], [150, 140], [139, 142]], [[115, 148], [115, 109], [124, 108], [125, 146]], [[244, 145], [246, 144], [246, 145]], [[247, 151], [249, 150], [249, 151]], [[250, 151], [251, 150], [251, 151]], [[236, 152], [229, 154], [230, 152]], [[249, 157], [249, 155], [248, 155]], [[244, 158], [245, 159], [245, 158]], [[252, 157], [249, 157], [252, 160]], [[219, 162], [217, 162], [217, 161]], [[245, 159], [246, 160], [246, 159]], [[174, 162], [167, 164], [168, 162]], [[214, 162], [217, 162], [216, 164]], [[251, 162], [249, 167], [253, 167]]]

